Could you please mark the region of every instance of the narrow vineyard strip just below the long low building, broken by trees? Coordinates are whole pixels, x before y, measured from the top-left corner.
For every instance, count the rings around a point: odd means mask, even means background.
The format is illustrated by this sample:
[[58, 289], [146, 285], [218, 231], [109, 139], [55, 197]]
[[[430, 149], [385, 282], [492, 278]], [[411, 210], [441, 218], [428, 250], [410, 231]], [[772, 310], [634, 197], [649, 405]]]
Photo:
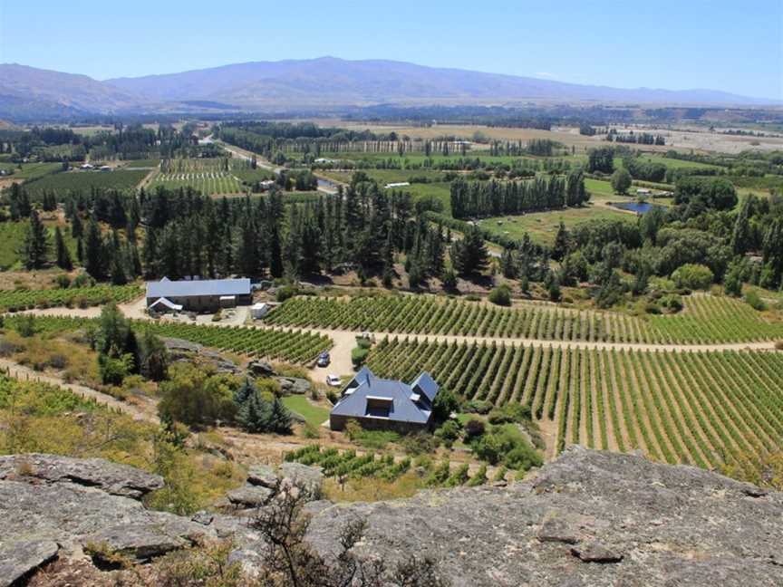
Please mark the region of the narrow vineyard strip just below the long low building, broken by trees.
[[[14, 327], [17, 316], [10, 316], [5, 323]], [[73, 318], [61, 316], [38, 316], [36, 329], [40, 332], [73, 331], [97, 325], [95, 318]], [[207, 326], [199, 324], [178, 324], [176, 322], [152, 322], [132, 320], [136, 331], [149, 330], [158, 336], [178, 338], [197, 342], [220, 351], [232, 351], [254, 357], [307, 363], [314, 361], [319, 353], [332, 347], [328, 336], [314, 332], [276, 330], [254, 326]]]

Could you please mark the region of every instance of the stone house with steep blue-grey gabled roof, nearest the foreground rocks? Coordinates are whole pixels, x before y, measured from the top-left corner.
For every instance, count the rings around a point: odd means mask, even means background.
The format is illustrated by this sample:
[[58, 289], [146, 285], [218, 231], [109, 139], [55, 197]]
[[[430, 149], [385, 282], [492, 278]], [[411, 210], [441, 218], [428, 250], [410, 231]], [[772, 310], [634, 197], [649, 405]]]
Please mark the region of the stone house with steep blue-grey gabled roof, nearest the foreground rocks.
[[422, 372], [408, 385], [398, 380], [381, 379], [369, 367], [362, 367], [334, 405], [329, 425], [333, 430], [342, 430], [353, 420], [362, 428], [403, 433], [430, 428], [432, 403], [439, 389], [427, 372]]

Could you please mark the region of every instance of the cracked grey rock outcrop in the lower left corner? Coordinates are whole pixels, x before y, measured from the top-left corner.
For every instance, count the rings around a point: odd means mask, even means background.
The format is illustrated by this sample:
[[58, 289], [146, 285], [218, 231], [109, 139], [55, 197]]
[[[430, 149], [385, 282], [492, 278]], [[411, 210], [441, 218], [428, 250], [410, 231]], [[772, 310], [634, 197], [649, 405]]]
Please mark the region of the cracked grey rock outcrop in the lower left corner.
[[72, 553], [101, 544], [147, 560], [215, 534], [203, 524], [146, 509], [138, 497], [162, 486], [162, 480], [133, 467], [24, 455], [3, 457], [0, 471], [4, 549], [53, 542]]

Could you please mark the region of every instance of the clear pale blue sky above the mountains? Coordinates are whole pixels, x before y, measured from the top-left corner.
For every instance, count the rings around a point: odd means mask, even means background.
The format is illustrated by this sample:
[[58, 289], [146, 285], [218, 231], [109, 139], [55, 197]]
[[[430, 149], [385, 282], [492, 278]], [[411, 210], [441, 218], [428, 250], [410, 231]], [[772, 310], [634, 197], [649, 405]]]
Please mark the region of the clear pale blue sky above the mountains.
[[106, 79], [333, 55], [783, 99], [783, 0], [435, 4], [0, 0], [0, 63]]

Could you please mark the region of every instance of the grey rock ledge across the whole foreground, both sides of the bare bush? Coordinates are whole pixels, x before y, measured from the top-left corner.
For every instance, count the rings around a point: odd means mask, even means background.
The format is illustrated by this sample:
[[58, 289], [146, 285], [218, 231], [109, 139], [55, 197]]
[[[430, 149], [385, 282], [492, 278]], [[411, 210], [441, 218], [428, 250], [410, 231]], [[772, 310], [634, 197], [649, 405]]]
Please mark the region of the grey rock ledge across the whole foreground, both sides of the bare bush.
[[[0, 463], [0, 569], [9, 573], [0, 585], [88, 541], [148, 560], [199, 535], [232, 537], [233, 560], [259, 561], [247, 512], [193, 520], [150, 512], [138, 497], [160, 481], [136, 469], [43, 455]], [[254, 471], [250, 486], [267, 476]], [[505, 488], [308, 509], [319, 551], [334, 552], [343, 524], [362, 517], [361, 554], [388, 563], [429, 555], [454, 587], [783, 585], [783, 494], [581, 447]]]

